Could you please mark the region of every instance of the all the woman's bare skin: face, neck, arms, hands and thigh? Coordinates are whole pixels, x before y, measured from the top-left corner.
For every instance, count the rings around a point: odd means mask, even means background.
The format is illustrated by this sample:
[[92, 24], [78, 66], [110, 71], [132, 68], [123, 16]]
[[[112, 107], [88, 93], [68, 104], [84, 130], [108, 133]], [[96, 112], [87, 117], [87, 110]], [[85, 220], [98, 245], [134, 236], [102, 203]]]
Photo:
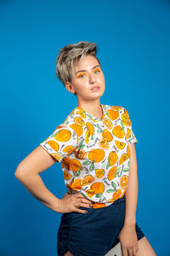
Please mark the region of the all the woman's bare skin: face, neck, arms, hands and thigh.
[[[77, 106], [84, 111], [92, 114], [97, 118], [101, 118], [102, 110], [99, 106], [99, 98], [105, 92], [105, 77], [99, 62], [94, 56], [86, 56], [82, 62], [75, 63], [75, 73], [79, 70], [86, 69], [86, 72], [79, 73], [70, 82], [65, 83], [65, 88], [71, 93], [77, 92]], [[93, 92], [91, 88], [98, 84], [100, 90]], [[155, 256], [153, 248], [149, 241], [144, 236], [139, 241], [137, 240], [134, 224], [136, 221], [136, 206], [138, 197], [138, 177], [137, 177], [137, 161], [134, 143], [129, 144], [132, 160], [130, 162], [128, 187], [125, 193], [126, 196], [126, 217], [123, 228], [118, 236], [122, 244], [123, 256]], [[53, 195], [42, 182], [40, 173], [54, 165], [56, 160], [48, 152], [38, 146], [31, 154], [28, 154], [17, 166], [14, 173], [15, 177], [26, 187], [26, 189], [38, 201], [54, 212], [82, 212], [77, 207], [89, 207], [91, 201], [84, 198], [80, 193], [68, 195], [66, 192], [62, 199], [58, 199]], [[73, 256], [69, 251], [64, 256]]]

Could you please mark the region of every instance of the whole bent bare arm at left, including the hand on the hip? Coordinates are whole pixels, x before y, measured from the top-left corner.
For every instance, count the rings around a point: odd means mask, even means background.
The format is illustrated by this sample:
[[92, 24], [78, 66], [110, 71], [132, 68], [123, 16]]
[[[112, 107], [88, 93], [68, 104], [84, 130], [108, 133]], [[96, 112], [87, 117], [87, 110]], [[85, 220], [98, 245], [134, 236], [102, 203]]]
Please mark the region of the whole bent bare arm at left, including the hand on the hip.
[[26, 189], [43, 205], [50, 208], [54, 212], [82, 212], [84, 210], [78, 207], [89, 207], [91, 201], [85, 198], [81, 193], [69, 195], [67, 192], [62, 199], [53, 195], [42, 182], [39, 173], [54, 165], [57, 160], [51, 154], [38, 146], [31, 154], [20, 162], [14, 172], [15, 177], [26, 187]]

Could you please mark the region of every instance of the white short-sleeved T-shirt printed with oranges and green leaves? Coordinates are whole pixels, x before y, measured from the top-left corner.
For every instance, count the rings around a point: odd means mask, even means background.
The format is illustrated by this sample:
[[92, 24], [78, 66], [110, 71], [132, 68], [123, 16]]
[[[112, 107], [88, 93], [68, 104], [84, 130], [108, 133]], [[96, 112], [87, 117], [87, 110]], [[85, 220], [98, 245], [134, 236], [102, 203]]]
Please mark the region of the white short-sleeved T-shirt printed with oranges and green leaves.
[[69, 194], [80, 191], [92, 207], [110, 206], [127, 189], [129, 143], [138, 143], [127, 110], [100, 104], [102, 118], [74, 108], [40, 145], [61, 163]]

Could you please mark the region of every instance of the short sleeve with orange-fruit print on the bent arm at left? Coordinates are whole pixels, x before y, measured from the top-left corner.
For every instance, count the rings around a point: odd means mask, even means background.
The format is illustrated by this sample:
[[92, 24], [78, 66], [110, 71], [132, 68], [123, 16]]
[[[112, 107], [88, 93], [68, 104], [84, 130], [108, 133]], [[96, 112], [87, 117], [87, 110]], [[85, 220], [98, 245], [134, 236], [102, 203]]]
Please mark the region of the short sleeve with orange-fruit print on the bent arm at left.
[[77, 151], [77, 132], [69, 125], [59, 125], [45, 141], [40, 143], [40, 145], [47, 150], [55, 160], [60, 162], [65, 156]]

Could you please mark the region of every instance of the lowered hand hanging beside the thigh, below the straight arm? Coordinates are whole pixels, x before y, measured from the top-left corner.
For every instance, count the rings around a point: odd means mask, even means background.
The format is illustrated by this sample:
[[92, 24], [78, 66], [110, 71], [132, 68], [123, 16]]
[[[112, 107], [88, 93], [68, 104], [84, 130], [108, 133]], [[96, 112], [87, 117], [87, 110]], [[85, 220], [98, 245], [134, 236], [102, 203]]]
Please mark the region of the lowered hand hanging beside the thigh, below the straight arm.
[[117, 238], [121, 241], [123, 256], [133, 256], [138, 252], [138, 236], [135, 227], [123, 226]]

